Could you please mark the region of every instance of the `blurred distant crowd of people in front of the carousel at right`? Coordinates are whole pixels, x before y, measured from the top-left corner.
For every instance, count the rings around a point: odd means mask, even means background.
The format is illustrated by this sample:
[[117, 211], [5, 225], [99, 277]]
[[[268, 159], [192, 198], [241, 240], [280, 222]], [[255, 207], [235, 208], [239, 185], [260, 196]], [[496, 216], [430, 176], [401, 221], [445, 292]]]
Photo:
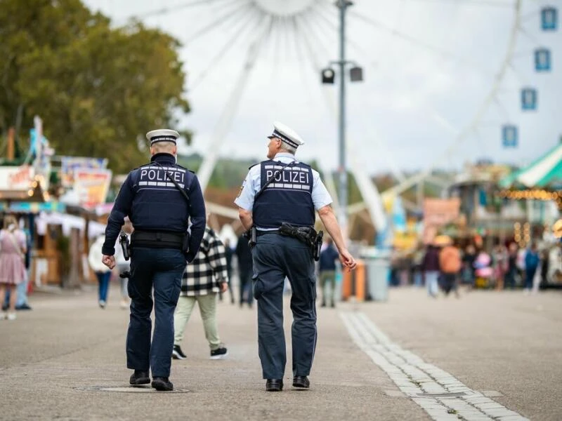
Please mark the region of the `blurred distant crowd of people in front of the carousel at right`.
[[467, 288], [503, 290], [521, 288], [525, 293], [559, 283], [562, 248], [559, 243], [536, 242], [520, 247], [514, 241], [495, 241], [486, 248], [481, 242], [459, 246], [447, 236], [419, 247], [414, 253], [396, 250], [391, 258], [391, 286], [426, 286], [429, 296]]

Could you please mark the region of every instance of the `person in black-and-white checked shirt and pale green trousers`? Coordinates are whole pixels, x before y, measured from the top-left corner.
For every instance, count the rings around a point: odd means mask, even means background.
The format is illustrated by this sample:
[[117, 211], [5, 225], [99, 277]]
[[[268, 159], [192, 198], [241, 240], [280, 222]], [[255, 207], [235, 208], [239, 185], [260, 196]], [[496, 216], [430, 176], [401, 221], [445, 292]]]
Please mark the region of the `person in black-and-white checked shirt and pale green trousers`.
[[188, 264], [181, 280], [180, 298], [174, 314], [174, 359], [186, 358], [180, 345], [195, 302], [199, 303], [205, 337], [211, 347], [211, 359], [221, 359], [228, 354], [216, 328], [216, 297], [219, 290], [224, 293], [227, 289], [226, 250], [221, 239], [207, 225], [199, 253]]

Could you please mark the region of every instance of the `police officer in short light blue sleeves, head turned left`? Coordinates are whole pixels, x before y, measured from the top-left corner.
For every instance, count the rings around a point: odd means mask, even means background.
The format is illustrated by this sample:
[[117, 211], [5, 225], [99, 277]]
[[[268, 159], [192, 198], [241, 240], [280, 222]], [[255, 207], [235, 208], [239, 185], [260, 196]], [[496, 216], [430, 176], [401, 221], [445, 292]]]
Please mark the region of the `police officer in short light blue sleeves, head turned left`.
[[316, 346], [315, 210], [334, 240], [342, 265], [351, 270], [356, 263], [346, 248], [330, 206], [332, 198], [320, 175], [294, 156], [303, 140], [278, 122], [268, 138], [268, 160], [250, 167], [235, 203], [242, 225], [255, 236], [251, 245], [259, 357], [266, 390], [278, 392], [283, 388], [287, 361], [282, 309], [285, 276], [292, 290], [293, 387], [310, 386], [308, 375]]

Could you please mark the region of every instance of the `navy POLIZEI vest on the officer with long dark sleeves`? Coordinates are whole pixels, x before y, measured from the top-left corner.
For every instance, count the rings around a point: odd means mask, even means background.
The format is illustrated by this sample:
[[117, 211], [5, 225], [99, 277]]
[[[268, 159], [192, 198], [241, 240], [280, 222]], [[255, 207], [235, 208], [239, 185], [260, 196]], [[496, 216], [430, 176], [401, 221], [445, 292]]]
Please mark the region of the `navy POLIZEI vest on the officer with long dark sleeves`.
[[167, 178], [166, 171], [189, 196], [189, 187], [195, 174], [176, 164], [174, 156], [155, 154], [152, 162], [131, 171], [135, 195], [130, 219], [135, 229], [181, 233], [187, 231], [188, 201]]

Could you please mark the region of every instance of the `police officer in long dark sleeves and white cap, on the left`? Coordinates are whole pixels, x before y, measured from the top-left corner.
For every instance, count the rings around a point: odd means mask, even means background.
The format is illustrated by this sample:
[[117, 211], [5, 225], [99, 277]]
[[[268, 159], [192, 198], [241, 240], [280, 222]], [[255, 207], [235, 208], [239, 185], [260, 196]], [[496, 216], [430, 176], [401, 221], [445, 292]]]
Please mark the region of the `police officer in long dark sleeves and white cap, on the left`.
[[[131, 385], [150, 383], [173, 390], [169, 381], [174, 346], [174, 310], [181, 289], [185, 261], [193, 260], [205, 229], [205, 205], [195, 173], [176, 163], [179, 134], [168, 129], [146, 134], [150, 163], [127, 175], [107, 218], [103, 263], [115, 267], [115, 241], [129, 217], [131, 274], [127, 286], [131, 316], [126, 339], [127, 368], [134, 370]], [[188, 235], [188, 225], [190, 235]], [[154, 288], [155, 329], [150, 341]]]

